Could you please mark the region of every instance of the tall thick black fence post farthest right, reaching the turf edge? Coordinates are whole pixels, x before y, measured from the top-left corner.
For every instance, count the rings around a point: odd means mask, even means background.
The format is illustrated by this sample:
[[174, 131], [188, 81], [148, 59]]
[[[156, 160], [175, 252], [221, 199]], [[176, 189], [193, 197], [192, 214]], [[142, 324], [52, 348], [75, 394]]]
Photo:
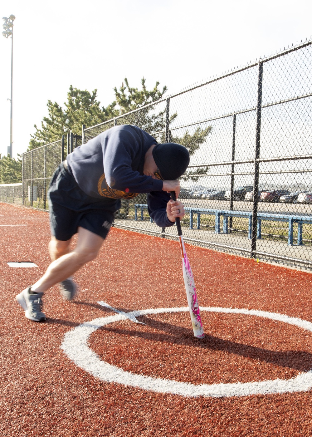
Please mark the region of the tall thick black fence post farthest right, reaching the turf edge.
[[256, 120], [256, 149], [253, 181], [253, 215], [251, 222], [251, 251], [250, 257], [256, 257], [257, 250], [257, 223], [258, 223], [258, 191], [259, 191], [259, 159], [260, 159], [260, 134], [261, 134], [261, 109], [262, 109], [262, 82], [263, 61], [258, 64], [258, 95], [257, 95], [257, 120]]

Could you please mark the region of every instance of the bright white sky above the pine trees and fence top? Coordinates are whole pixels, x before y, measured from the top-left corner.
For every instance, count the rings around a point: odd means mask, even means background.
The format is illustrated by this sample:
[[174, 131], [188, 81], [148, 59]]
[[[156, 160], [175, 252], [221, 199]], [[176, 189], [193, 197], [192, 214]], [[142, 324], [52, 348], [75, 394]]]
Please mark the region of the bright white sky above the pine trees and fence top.
[[[296, 5], [296, 6], [295, 6]], [[312, 1], [1, 0], [14, 14], [13, 156], [69, 85], [102, 106], [124, 77], [167, 95], [311, 37]], [[1, 21], [1, 23], [3, 23]], [[1, 29], [2, 31], [2, 29]], [[10, 143], [11, 38], [0, 38], [0, 153]]]

